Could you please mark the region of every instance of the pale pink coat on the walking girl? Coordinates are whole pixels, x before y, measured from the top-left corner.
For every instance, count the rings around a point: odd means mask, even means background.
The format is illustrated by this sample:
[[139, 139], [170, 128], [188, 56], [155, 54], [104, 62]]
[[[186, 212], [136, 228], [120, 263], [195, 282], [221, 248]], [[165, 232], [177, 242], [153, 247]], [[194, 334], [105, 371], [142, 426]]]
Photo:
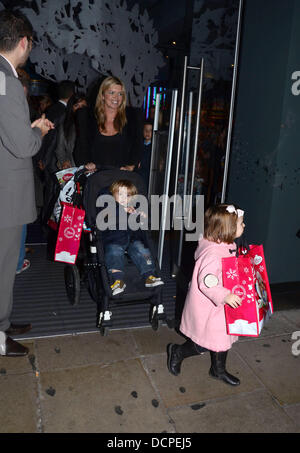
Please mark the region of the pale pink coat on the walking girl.
[[235, 249], [235, 244], [200, 239], [195, 252], [196, 262], [180, 330], [211, 351], [227, 351], [238, 339], [238, 336], [227, 335], [224, 299], [230, 291], [222, 284], [222, 258], [233, 256], [229, 250]]

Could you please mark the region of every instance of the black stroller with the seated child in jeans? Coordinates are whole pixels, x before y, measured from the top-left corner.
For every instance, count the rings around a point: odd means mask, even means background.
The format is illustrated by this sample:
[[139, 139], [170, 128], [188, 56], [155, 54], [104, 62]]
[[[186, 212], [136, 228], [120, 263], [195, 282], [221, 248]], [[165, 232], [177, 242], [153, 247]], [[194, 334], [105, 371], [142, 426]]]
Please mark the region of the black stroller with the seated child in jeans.
[[[85, 223], [88, 231], [81, 236], [80, 249], [75, 265], [67, 264], [64, 269], [67, 296], [71, 304], [76, 305], [80, 300], [80, 288], [85, 284], [92, 299], [97, 304], [97, 327], [101, 335], [108, 334], [113, 327], [113, 309], [116, 304], [133, 304], [148, 302], [150, 304], [149, 322], [153, 330], [166, 321], [164, 306], [162, 304], [163, 285], [155, 288], [145, 288], [144, 281], [136, 266], [128, 259], [125, 266], [126, 291], [116, 296], [112, 295], [108, 270], [104, 260], [104, 247], [102, 233], [96, 226], [97, 207], [96, 200], [102, 189], [110, 186], [114, 181], [127, 179], [135, 184], [138, 193], [145, 195], [145, 186], [140, 175], [119, 169], [107, 169], [96, 172], [83, 181], [82, 170], [75, 174], [75, 184], [80, 181], [82, 200], [76, 196], [74, 204], [81, 202], [85, 209]], [[149, 231], [143, 231], [145, 245], [150, 249], [153, 258], [156, 257]], [[155, 259], [156, 275], [160, 276], [160, 269]]]

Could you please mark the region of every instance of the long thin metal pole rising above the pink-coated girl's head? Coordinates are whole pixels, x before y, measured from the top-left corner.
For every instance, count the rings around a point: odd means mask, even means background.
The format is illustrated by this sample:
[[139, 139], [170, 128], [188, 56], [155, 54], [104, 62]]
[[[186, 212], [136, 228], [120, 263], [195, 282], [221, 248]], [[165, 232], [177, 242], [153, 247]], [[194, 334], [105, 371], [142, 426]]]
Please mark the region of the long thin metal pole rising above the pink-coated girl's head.
[[225, 201], [227, 177], [228, 177], [228, 165], [229, 165], [229, 155], [230, 155], [230, 145], [231, 145], [231, 135], [232, 135], [233, 111], [234, 111], [236, 80], [237, 80], [238, 60], [239, 60], [239, 48], [240, 48], [240, 39], [241, 39], [242, 10], [243, 10], [243, 0], [240, 0], [238, 25], [237, 25], [237, 33], [236, 33], [236, 43], [235, 43], [234, 71], [233, 71], [233, 81], [232, 81], [230, 115], [229, 115], [229, 125], [228, 125], [228, 134], [227, 134], [221, 203], [224, 203], [224, 201]]

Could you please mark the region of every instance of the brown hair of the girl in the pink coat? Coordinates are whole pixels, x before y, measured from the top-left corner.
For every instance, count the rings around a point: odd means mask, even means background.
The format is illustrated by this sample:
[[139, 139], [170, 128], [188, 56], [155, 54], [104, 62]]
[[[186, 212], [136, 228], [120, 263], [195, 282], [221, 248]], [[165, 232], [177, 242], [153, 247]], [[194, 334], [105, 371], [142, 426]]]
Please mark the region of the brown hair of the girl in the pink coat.
[[[209, 207], [204, 214], [204, 238], [213, 242], [232, 244], [237, 228], [238, 216], [226, 210], [228, 204]], [[235, 205], [233, 205], [235, 206]], [[235, 206], [237, 209], [237, 206]]]

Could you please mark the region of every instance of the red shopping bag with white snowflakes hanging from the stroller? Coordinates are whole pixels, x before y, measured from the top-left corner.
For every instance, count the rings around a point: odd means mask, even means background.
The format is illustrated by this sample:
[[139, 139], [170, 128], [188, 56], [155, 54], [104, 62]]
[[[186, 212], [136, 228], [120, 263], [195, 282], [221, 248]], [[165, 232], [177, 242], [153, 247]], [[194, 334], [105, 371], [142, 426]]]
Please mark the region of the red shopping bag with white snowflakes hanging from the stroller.
[[78, 255], [85, 211], [68, 203], [62, 203], [55, 261], [75, 264]]

